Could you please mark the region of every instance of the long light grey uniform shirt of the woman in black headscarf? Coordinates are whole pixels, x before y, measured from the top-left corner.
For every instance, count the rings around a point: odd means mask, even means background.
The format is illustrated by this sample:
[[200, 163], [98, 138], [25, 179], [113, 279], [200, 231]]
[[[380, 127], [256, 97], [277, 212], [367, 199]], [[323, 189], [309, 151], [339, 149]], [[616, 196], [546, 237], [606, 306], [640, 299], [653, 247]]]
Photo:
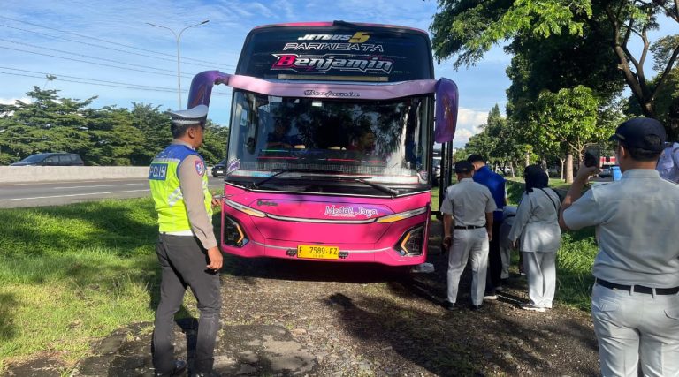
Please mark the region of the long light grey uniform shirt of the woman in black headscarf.
[[508, 238], [519, 240], [522, 252], [556, 253], [561, 246], [559, 195], [550, 188], [533, 189], [523, 196]]

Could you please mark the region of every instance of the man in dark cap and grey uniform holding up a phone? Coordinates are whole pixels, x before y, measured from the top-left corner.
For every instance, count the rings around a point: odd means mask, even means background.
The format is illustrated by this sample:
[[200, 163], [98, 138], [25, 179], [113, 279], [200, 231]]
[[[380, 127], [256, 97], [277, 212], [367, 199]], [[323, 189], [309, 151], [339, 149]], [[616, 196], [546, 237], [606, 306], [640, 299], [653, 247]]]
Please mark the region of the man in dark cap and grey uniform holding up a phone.
[[596, 226], [591, 317], [604, 376], [679, 375], [679, 186], [655, 170], [665, 129], [637, 117], [611, 137], [622, 179], [581, 192], [596, 167], [580, 166], [561, 226]]

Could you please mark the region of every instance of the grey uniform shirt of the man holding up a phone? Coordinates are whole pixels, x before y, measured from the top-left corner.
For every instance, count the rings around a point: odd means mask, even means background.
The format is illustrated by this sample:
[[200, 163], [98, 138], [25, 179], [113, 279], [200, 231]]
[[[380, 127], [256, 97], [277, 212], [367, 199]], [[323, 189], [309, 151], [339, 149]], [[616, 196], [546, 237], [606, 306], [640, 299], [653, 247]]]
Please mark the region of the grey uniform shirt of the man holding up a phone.
[[599, 279], [653, 288], [679, 286], [679, 185], [657, 170], [627, 170], [622, 179], [597, 185], [563, 212], [569, 229], [596, 226]]

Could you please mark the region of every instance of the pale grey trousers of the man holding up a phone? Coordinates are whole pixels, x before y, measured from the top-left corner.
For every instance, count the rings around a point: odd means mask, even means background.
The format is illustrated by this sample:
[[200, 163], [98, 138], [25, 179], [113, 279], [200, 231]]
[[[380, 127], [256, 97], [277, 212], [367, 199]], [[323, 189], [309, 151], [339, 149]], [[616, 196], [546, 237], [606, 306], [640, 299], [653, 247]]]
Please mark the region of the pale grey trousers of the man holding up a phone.
[[611, 290], [591, 291], [591, 318], [599, 341], [601, 374], [679, 376], [679, 295]]

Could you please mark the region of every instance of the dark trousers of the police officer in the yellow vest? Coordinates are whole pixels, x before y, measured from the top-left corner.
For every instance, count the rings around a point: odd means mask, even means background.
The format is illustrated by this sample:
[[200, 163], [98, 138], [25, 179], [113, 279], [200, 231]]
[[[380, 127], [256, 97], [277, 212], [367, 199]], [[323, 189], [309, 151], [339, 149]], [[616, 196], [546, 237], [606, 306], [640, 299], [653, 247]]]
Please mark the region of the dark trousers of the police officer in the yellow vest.
[[207, 252], [197, 238], [161, 234], [156, 254], [162, 268], [160, 303], [153, 330], [153, 365], [156, 374], [169, 375], [174, 368], [172, 328], [174, 314], [184, 301], [187, 287], [198, 302], [201, 318], [195, 345], [194, 373], [209, 373], [219, 329], [219, 274], [207, 270]]

